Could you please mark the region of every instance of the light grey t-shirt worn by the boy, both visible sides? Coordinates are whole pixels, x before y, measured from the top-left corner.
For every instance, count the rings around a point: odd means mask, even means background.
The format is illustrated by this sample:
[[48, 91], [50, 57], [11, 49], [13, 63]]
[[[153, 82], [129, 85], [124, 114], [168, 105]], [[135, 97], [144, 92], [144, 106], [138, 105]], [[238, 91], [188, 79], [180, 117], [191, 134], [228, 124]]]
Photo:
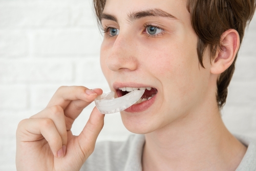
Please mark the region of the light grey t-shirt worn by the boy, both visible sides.
[[[236, 136], [247, 146], [246, 154], [236, 171], [256, 170], [256, 142]], [[98, 142], [81, 171], [141, 171], [144, 135], [131, 135], [125, 142]]]

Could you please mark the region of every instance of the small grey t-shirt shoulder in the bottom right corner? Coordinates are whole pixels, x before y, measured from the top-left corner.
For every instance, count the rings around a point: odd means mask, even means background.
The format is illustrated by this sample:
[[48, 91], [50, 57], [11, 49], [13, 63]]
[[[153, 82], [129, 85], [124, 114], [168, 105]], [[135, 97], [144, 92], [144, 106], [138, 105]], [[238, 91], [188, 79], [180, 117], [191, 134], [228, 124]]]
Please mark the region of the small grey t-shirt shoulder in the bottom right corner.
[[246, 136], [235, 137], [247, 146], [247, 151], [236, 171], [256, 170], [256, 141]]

